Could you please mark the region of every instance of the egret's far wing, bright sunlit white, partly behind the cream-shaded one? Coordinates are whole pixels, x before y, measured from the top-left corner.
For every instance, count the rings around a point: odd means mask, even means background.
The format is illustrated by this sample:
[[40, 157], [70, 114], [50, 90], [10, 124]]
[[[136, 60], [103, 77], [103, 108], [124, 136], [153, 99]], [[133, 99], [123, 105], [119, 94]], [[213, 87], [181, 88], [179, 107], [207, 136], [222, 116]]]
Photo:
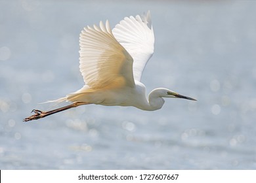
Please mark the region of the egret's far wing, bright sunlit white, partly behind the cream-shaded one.
[[141, 17], [125, 17], [112, 31], [117, 41], [133, 58], [133, 76], [140, 81], [144, 67], [154, 53], [154, 31], [150, 12]]

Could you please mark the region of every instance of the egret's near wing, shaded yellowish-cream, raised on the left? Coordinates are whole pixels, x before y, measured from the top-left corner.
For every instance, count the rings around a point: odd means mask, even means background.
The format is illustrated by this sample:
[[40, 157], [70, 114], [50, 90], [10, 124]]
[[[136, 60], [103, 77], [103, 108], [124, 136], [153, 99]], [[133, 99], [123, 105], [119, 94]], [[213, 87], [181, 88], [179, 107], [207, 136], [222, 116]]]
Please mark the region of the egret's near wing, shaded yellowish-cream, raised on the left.
[[79, 68], [85, 84], [93, 89], [134, 87], [133, 58], [116, 41], [108, 20], [100, 27], [81, 31]]

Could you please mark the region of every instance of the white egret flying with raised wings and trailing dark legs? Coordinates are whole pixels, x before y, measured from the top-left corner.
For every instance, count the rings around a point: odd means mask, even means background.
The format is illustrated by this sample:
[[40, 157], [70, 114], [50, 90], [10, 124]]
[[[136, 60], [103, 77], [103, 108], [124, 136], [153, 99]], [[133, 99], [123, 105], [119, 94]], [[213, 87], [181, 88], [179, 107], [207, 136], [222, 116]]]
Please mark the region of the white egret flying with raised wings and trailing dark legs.
[[104, 25], [85, 27], [79, 37], [79, 69], [85, 85], [55, 101], [72, 102], [65, 107], [35, 114], [24, 122], [44, 118], [56, 112], [80, 105], [133, 106], [142, 110], [158, 110], [163, 97], [194, 100], [165, 88], [156, 88], [146, 97], [146, 88], [140, 78], [146, 63], [154, 52], [154, 31], [150, 12], [141, 16], [125, 17], [110, 28]]

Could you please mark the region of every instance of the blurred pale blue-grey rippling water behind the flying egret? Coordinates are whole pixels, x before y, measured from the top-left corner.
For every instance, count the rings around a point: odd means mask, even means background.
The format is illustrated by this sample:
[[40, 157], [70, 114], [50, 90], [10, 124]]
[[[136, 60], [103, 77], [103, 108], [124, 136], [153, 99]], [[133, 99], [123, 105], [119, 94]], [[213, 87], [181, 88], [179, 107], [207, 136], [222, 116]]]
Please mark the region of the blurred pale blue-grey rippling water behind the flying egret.
[[[142, 82], [198, 101], [90, 105], [24, 123], [83, 86], [85, 25], [151, 10]], [[0, 169], [255, 169], [256, 2], [0, 1]]]

